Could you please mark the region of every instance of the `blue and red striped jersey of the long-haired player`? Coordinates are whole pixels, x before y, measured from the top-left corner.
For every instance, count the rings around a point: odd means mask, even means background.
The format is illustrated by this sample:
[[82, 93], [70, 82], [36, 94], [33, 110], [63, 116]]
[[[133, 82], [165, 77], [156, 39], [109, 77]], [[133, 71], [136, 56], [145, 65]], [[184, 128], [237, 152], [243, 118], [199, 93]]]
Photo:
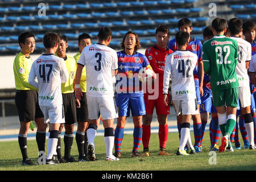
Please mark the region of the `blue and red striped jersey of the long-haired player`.
[[116, 90], [118, 96], [143, 96], [142, 84], [139, 81], [139, 70], [149, 64], [147, 57], [134, 51], [133, 55], [126, 55], [125, 51], [117, 52], [118, 74]]

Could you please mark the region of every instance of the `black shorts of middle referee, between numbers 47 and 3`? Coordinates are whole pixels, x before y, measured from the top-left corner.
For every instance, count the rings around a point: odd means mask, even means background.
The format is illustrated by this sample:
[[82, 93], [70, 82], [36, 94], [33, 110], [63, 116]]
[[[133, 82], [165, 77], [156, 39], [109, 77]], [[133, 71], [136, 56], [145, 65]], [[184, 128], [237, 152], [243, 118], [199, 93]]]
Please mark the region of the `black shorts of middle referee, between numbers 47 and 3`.
[[63, 93], [63, 109], [65, 124], [72, 125], [76, 123], [76, 98], [74, 93]]

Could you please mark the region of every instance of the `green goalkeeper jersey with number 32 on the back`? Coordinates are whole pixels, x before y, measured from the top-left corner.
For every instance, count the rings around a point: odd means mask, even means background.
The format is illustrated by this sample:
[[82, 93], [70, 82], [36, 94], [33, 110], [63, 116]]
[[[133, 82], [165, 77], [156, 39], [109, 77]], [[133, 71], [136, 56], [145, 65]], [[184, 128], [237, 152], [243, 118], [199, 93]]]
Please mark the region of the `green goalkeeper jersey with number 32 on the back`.
[[210, 75], [213, 90], [237, 87], [238, 44], [224, 35], [214, 36], [203, 44], [204, 72]]

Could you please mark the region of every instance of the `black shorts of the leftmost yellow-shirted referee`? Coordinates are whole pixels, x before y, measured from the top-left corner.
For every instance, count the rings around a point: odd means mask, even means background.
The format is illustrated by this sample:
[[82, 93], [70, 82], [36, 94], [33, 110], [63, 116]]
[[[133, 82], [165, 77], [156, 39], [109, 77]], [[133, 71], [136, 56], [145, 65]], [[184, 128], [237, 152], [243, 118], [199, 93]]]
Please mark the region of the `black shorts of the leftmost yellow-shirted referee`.
[[19, 121], [30, 122], [44, 117], [36, 90], [16, 90], [15, 105], [18, 109]]

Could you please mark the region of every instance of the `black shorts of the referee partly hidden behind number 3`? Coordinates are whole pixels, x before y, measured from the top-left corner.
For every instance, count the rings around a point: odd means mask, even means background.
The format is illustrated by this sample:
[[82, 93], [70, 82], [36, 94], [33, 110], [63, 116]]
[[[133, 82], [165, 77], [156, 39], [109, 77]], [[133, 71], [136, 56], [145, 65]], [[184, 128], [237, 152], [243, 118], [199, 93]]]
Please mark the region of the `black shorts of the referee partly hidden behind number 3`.
[[80, 100], [80, 108], [76, 107], [76, 117], [77, 122], [88, 122], [88, 107], [87, 107], [87, 100], [86, 100], [86, 93], [82, 93], [82, 97]]

